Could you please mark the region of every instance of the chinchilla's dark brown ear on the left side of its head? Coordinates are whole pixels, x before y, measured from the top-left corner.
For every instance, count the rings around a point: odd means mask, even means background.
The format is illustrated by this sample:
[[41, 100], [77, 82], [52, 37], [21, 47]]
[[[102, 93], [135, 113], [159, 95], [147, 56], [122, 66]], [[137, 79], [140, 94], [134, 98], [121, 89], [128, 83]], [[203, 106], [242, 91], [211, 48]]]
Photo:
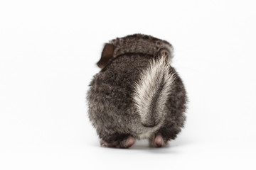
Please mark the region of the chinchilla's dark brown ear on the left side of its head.
[[102, 56], [100, 57], [100, 61], [97, 62], [97, 66], [103, 69], [107, 62], [113, 57], [114, 54], [114, 45], [110, 43], [106, 43], [103, 50], [102, 50]]

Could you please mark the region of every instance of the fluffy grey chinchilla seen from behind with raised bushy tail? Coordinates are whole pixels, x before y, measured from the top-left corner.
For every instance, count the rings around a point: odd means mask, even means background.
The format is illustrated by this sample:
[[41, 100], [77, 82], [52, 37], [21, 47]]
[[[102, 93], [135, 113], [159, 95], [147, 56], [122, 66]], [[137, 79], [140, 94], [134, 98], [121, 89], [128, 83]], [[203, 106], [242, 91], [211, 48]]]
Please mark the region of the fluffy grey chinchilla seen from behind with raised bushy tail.
[[89, 118], [105, 147], [151, 147], [174, 140], [186, 120], [186, 91], [171, 67], [173, 47], [134, 34], [105, 44], [87, 93]]

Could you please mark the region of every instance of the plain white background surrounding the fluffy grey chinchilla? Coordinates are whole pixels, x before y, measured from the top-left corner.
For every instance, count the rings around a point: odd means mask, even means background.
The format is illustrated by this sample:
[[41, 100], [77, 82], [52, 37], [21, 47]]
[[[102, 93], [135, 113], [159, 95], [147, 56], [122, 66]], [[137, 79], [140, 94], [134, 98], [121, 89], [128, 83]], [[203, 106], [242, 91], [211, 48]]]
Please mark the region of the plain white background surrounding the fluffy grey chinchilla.
[[[0, 169], [256, 169], [255, 1], [1, 1]], [[169, 147], [102, 148], [86, 91], [102, 45], [174, 45], [188, 91]]]

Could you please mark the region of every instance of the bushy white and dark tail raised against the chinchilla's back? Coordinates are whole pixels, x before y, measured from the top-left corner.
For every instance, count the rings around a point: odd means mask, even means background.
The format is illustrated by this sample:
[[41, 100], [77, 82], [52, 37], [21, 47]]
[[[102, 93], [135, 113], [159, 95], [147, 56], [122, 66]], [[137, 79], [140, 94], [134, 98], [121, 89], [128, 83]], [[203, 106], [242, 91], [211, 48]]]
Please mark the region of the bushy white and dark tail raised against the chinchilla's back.
[[175, 74], [171, 74], [170, 68], [165, 56], [151, 60], [134, 86], [134, 103], [146, 127], [156, 126], [163, 116], [175, 80]]

